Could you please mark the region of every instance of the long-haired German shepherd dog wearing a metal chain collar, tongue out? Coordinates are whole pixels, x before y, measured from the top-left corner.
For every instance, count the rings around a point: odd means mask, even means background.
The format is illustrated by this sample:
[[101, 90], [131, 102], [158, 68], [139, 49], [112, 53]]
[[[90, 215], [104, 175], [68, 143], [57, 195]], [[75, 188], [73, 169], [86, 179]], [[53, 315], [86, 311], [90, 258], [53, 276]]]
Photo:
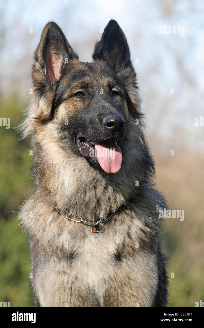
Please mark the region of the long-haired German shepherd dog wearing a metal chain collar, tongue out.
[[35, 306], [165, 306], [160, 252], [165, 201], [153, 188], [136, 73], [124, 33], [109, 21], [93, 62], [80, 62], [49, 22], [35, 51], [35, 193], [20, 210]]

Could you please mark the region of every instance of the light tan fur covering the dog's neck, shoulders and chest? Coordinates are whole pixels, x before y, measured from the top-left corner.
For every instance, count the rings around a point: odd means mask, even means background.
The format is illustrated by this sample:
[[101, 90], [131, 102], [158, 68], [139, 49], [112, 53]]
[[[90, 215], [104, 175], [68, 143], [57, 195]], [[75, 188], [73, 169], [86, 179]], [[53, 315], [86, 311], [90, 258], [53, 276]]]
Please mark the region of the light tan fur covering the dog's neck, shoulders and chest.
[[[41, 165], [45, 167], [40, 183], [51, 193], [31, 197], [21, 211], [21, 219], [26, 231], [37, 241], [37, 254], [42, 256], [46, 250], [39, 276], [36, 272], [34, 277], [40, 304], [92, 306], [87, 291], [93, 290], [103, 306], [151, 306], [157, 287], [156, 259], [150, 250], [136, 248], [136, 242], [142, 245], [144, 240], [149, 240], [154, 220], [151, 223], [151, 218], [137, 213], [134, 206], [117, 214], [117, 209], [126, 203], [130, 186], [135, 188], [136, 177], [128, 176], [131, 168], [126, 170], [124, 164], [115, 174], [117, 178], [114, 175], [114, 183], [111, 179], [104, 180], [85, 158], [77, 158], [61, 149], [54, 123], [41, 127], [35, 134], [35, 142], [42, 146]], [[53, 210], [47, 199], [62, 211], [68, 209], [68, 215], [87, 220], [99, 217], [101, 211], [104, 216], [110, 210], [116, 214], [106, 223], [103, 234], [91, 234], [90, 227], [70, 222]], [[147, 222], [150, 227], [146, 226]], [[127, 233], [131, 243], [126, 241]], [[68, 242], [67, 248], [65, 242]], [[123, 248], [127, 258], [116, 265], [112, 256], [118, 248]], [[136, 254], [132, 250], [136, 250]], [[69, 252], [77, 255], [72, 264], [67, 260]], [[84, 293], [81, 303], [79, 292]]]

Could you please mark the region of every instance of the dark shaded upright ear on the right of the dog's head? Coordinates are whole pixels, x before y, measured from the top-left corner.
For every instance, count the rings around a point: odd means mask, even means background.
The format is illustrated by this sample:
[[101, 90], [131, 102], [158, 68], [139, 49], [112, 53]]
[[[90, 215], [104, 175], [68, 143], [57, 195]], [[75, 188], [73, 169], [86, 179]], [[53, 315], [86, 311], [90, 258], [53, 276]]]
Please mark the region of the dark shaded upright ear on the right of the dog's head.
[[126, 37], [115, 20], [109, 21], [101, 40], [96, 43], [93, 60], [105, 60], [111, 65], [128, 92], [134, 107], [139, 110], [140, 101], [137, 94], [136, 73], [131, 63]]

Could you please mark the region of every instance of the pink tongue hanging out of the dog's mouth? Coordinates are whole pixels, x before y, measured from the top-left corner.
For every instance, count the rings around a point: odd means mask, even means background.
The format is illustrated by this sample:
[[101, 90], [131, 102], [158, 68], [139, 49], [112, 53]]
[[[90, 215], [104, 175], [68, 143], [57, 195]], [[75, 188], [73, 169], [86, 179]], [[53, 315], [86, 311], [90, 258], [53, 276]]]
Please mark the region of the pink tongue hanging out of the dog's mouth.
[[102, 169], [107, 173], [118, 172], [122, 164], [121, 148], [111, 141], [95, 143], [95, 147]]

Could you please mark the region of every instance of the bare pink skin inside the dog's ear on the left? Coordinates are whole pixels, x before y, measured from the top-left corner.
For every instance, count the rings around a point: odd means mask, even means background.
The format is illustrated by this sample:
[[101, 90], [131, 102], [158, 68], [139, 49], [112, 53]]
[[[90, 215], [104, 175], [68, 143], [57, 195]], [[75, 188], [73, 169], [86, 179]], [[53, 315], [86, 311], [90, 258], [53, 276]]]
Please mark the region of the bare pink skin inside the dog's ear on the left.
[[47, 50], [46, 55], [46, 77], [52, 84], [52, 77], [58, 81], [60, 78], [60, 71], [61, 71], [61, 64], [62, 64], [62, 57], [58, 54]]

